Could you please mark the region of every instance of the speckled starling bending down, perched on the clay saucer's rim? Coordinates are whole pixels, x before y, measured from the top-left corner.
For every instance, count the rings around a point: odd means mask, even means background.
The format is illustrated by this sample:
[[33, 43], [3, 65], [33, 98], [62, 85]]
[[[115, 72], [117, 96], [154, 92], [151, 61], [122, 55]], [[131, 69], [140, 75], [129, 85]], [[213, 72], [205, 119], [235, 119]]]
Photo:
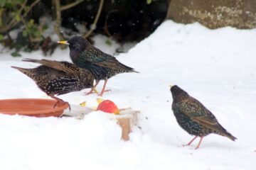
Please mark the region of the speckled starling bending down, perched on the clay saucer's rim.
[[[92, 73], [69, 62], [33, 59], [24, 59], [23, 61], [41, 64], [33, 69], [12, 67], [33, 79], [42, 91], [54, 98], [57, 101], [53, 106], [54, 108], [58, 103], [68, 103], [55, 97], [55, 95], [68, 94], [72, 91], [93, 87], [94, 77]], [[69, 103], [68, 106], [70, 108]]]

